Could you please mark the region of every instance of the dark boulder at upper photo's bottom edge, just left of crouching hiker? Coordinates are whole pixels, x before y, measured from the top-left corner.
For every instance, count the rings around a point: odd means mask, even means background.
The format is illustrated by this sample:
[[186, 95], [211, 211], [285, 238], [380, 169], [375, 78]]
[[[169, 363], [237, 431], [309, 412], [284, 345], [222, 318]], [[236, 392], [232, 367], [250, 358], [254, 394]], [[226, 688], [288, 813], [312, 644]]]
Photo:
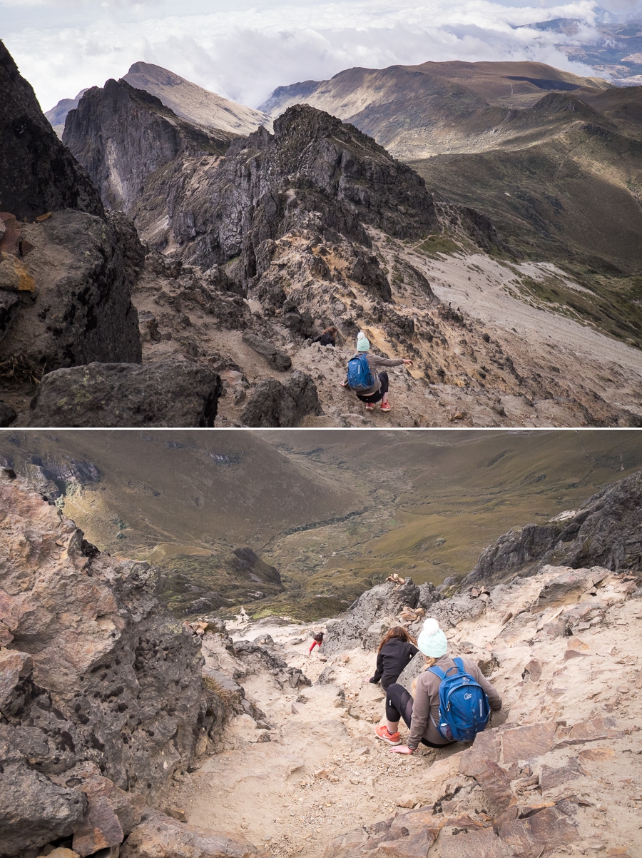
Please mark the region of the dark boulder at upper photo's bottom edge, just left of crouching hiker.
[[306, 414], [322, 414], [316, 385], [304, 372], [293, 372], [281, 384], [266, 378], [256, 385], [243, 409], [245, 426], [297, 426]]

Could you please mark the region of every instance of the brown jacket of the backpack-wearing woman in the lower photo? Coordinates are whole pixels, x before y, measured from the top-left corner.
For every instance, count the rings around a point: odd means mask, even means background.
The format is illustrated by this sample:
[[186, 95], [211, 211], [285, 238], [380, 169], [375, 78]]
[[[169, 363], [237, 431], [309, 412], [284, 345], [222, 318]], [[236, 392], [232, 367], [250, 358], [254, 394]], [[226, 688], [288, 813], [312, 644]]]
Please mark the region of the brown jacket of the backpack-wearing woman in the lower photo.
[[[486, 679], [482, 671], [477, 667], [477, 664], [471, 662], [471, 659], [465, 656], [461, 656], [461, 660], [464, 662], [466, 673], [471, 674], [488, 695], [491, 710], [494, 712], [501, 710], [501, 697], [495, 691], [495, 688], [490, 685], [489, 680]], [[448, 668], [454, 668], [454, 666], [455, 663], [450, 656], [441, 656], [435, 662], [435, 667], [441, 668], [444, 672]], [[435, 676], [435, 674], [431, 674], [429, 670], [424, 670], [417, 677], [415, 702], [412, 706], [411, 732], [407, 741], [408, 747], [416, 748], [422, 739], [433, 742], [435, 745], [451, 744], [444, 739], [436, 728], [436, 723], [439, 720], [440, 685], [440, 678]]]

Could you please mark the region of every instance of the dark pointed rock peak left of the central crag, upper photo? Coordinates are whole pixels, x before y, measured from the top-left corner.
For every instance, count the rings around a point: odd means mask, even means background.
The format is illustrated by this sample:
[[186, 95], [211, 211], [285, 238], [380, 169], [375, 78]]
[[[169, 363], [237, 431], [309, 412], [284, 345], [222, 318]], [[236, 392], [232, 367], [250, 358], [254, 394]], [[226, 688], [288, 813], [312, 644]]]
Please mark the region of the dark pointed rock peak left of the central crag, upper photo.
[[107, 208], [135, 212], [147, 176], [177, 159], [223, 154], [234, 135], [187, 122], [121, 80], [93, 87], [69, 112], [63, 143], [87, 168]]

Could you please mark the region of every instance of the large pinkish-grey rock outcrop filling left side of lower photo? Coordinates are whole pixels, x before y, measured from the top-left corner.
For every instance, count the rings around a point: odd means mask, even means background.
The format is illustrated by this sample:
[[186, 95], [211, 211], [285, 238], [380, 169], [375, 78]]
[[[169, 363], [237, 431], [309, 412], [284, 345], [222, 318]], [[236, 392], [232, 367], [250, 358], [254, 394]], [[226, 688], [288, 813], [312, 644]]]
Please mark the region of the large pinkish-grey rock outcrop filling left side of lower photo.
[[9, 471], [0, 517], [0, 854], [73, 834], [90, 855], [207, 734], [200, 638], [160, 607], [152, 568], [90, 550]]

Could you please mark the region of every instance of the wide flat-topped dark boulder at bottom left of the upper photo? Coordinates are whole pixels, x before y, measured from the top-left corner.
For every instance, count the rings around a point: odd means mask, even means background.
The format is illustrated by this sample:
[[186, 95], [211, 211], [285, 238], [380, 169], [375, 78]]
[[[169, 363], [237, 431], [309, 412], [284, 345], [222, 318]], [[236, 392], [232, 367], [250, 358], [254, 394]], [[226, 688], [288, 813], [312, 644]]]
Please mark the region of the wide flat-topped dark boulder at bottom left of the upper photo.
[[221, 391], [207, 366], [175, 361], [50, 372], [24, 426], [213, 426]]

